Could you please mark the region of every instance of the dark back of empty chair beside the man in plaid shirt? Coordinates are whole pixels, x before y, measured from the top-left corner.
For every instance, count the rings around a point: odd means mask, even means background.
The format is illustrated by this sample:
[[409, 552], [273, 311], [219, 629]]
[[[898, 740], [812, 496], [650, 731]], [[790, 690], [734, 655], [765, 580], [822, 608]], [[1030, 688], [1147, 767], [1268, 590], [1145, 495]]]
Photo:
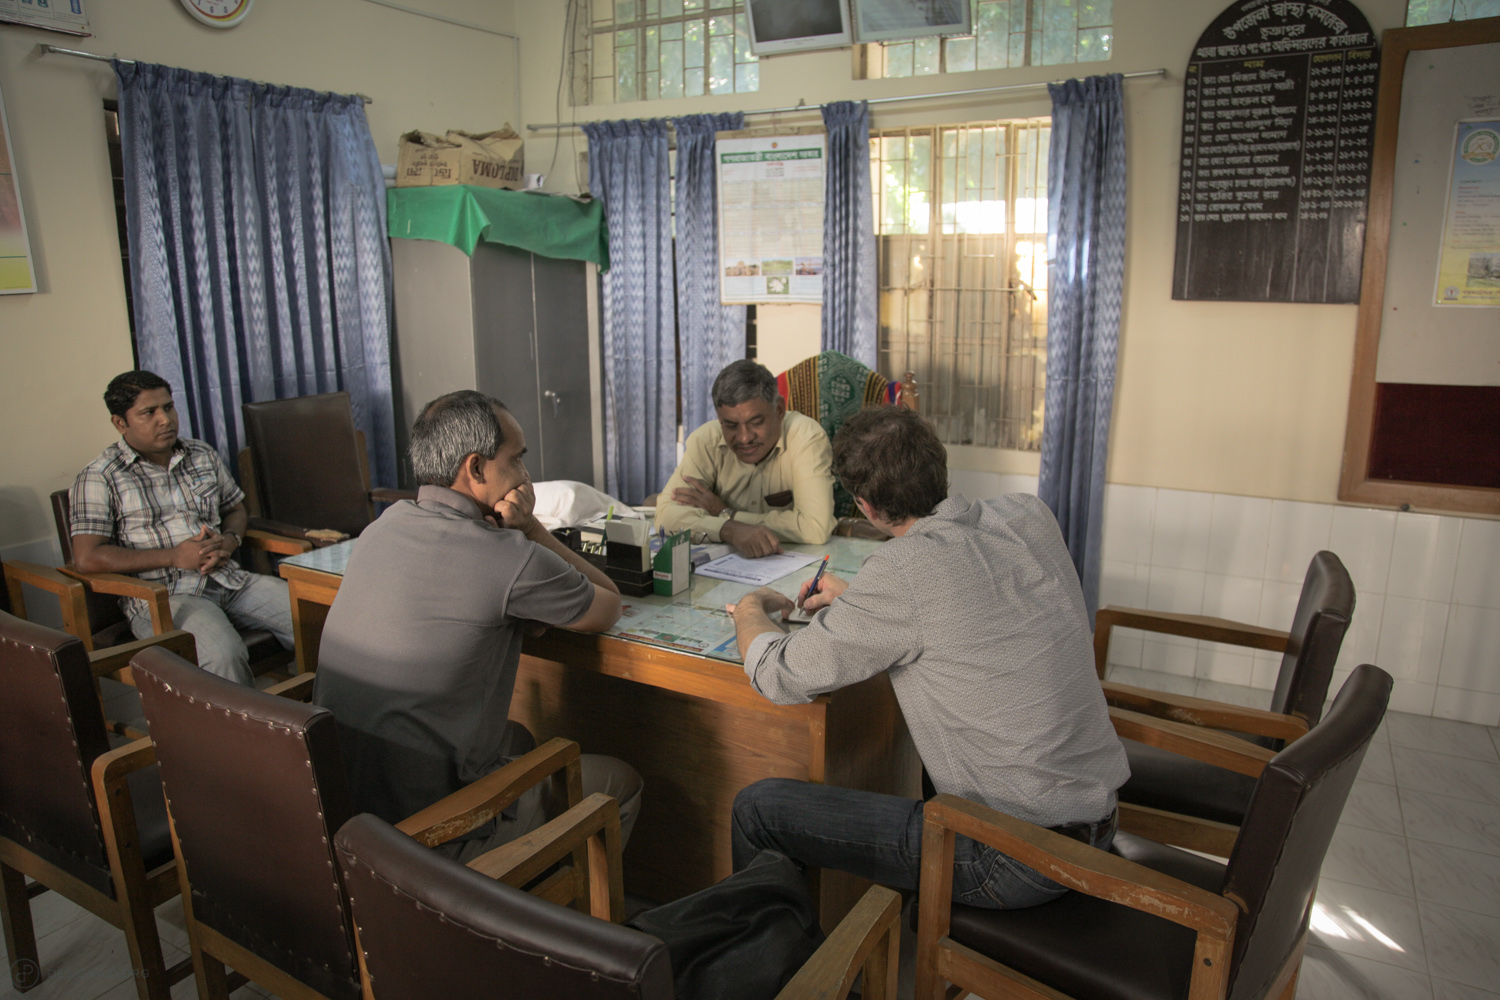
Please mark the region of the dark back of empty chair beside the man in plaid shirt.
[[261, 517], [364, 531], [375, 511], [348, 393], [244, 403], [240, 412]]

